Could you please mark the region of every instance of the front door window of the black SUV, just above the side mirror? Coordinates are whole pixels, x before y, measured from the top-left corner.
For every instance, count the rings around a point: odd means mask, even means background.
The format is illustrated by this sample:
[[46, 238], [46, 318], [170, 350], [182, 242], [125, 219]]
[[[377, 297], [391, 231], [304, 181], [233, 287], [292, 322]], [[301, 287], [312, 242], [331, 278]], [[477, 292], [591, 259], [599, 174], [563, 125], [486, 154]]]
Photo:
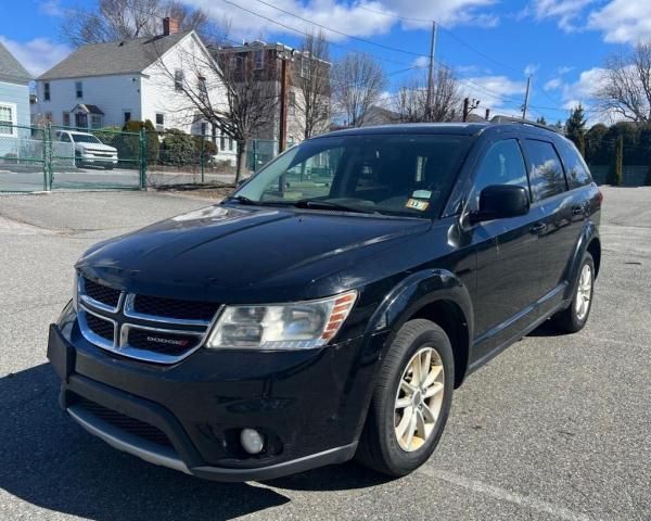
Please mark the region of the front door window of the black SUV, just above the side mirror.
[[514, 139], [493, 144], [482, 160], [474, 182], [475, 207], [480, 192], [490, 185], [515, 185], [528, 190], [524, 158]]

